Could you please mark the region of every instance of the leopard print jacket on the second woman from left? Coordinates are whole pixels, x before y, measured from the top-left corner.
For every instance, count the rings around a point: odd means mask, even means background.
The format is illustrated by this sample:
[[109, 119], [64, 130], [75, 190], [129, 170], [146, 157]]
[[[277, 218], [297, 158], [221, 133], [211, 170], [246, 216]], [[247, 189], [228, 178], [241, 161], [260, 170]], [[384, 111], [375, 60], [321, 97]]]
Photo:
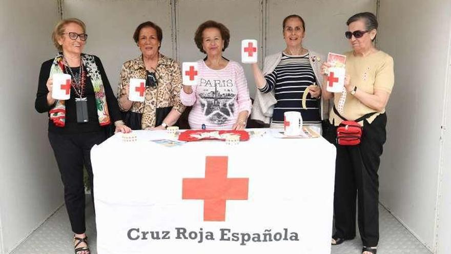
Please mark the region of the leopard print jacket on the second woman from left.
[[[185, 110], [185, 106], [180, 102], [181, 72], [180, 65], [160, 53], [157, 67], [155, 68], [157, 87], [147, 87], [144, 102], [133, 102], [130, 108], [133, 112], [142, 113], [141, 128], [143, 130], [155, 127], [156, 108], [170, 107], [180, 114]], [[127, 88], [130, 79], [146, 79], [146, 66], [142, 61], [142, 56], [127, 61], [122, 65], [119, 75], [119, 85], [117, 87], [117, 101], [120, 110], [122, 108], [120, 99], [127, 96]]]

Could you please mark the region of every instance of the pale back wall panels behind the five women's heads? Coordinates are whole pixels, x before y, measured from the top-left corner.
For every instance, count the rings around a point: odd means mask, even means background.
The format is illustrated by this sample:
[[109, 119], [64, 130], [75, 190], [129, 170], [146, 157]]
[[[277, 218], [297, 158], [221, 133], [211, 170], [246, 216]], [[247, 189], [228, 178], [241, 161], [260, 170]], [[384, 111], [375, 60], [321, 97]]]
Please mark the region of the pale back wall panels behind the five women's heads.
[[[65, 0], [64, 17], [78, 17], [89, 34], [86, 52], [103, 60], [111, 86], [116, 91], [123, 62], [139, 55], [131, 37], [141, 22], [153, 21], [163, 30], [161, 52], [177, 61], [203, 58], [194, 43], [194, 32], [208, 19], [230, 29], [231, 40], [224, 56], [239, 62], [241, 40], [259, 42], [259, 62], [267, 54], [284, 49], [281, 23], [285, 16], [305, 18], [306, 46], [327, 53], [349, 50], [344, 31], [346, 19], [360, 11], [376, 12], [376, 0]], [[125, 18], [126, 17], [126, 18]], [[325, 31], [325, 32], [323, 32]], [[336, 40], [330, 40], [336, 38]], [[265, 46], [267, 45], [267, 46]], [[254, 77], [243, 65], [251, 96]]]

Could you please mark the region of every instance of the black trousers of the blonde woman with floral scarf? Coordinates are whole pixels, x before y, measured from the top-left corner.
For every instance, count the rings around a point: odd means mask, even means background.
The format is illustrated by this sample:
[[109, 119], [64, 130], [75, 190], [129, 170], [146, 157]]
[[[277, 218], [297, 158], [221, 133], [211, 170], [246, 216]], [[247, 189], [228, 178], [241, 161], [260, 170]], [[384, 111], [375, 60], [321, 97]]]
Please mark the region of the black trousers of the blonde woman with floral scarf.
[[[89, 187], [94, 200], [91, 148], [105, 141], [104, 131], [58, 134], [49, 132], [50, 145], [55, 154], [61, 180], [64, 185], [64, 201], [74, 233], [84, 233], [85, 225], [85, 186], [83, 167], [88, 171]], [[94, 202], [93, 202], [94, 204]]]

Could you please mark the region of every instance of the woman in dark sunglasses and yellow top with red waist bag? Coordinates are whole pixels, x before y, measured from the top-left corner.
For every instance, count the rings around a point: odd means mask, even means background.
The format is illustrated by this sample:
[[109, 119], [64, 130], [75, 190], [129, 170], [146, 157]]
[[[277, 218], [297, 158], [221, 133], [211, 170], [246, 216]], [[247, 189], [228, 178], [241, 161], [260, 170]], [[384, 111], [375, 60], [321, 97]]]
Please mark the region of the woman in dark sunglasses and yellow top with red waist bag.
[[[337, 146], [335, 168], [334, 214], [336, 233], [332, 244], [341, 244], [356, 235], [356, 196], [359, 232], [363, 254], [375, 254], [379, 241], [378, 169], [385, 143], [387, 116], [385, 106], [394, 85], [393, 58], [378, 50], [373, 42], [378, 22], [374, 14], [358, 13], [350, 17], [345, 36], [353, 50], [346, 55], [346, 93], [330, 93], [323, 84], [325, 98], [334, 98], [335, 105], [345, 100], [342, 113], [334, 107], [332, 124], [325, 136]], [[323, 63], [322, 73], [331, 67]], [[327, 77], [324, 77], [327, 80]], [[344, 120], [363, 119], [361, 143], [356, 146], [336, 144], [337, 126]]]

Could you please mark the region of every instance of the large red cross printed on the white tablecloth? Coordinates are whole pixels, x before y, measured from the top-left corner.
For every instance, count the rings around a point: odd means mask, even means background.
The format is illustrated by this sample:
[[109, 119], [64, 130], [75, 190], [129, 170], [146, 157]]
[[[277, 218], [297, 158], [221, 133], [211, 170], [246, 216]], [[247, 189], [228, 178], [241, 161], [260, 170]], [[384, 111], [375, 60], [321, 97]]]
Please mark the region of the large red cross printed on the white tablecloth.
[[227, 200], [247, 200], [249, 178], [227, 178], [228, 157], [206, 157], [205, 178], [183, 178], [182, 199], [203, 200], [203, 221], [226, 221]]

